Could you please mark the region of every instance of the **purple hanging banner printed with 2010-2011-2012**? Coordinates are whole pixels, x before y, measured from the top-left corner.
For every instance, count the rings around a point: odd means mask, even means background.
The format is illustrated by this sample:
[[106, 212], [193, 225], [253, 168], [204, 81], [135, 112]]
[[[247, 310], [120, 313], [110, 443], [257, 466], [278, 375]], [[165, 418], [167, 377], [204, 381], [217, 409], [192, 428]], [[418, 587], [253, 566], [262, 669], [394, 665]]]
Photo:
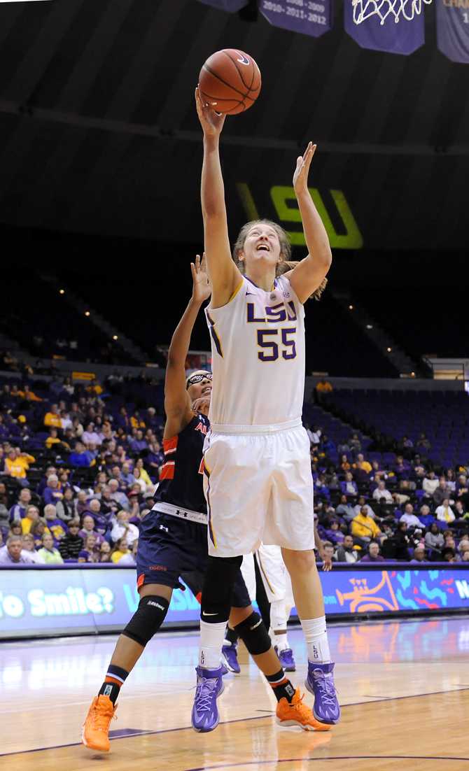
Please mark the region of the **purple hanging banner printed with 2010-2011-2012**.
[[259, 10], [275, 27], [313, 38], [332, 28], [332, 0], [260, 0]]

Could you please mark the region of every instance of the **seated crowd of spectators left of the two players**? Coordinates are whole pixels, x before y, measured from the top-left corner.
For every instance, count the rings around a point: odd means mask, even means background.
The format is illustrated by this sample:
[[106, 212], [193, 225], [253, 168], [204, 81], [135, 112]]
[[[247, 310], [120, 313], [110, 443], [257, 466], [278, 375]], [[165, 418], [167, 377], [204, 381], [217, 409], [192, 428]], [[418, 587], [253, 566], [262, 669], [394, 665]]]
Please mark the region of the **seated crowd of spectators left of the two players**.
[[98, 382], [0, 386], [0, 564], [135, 564], [162, 423]]

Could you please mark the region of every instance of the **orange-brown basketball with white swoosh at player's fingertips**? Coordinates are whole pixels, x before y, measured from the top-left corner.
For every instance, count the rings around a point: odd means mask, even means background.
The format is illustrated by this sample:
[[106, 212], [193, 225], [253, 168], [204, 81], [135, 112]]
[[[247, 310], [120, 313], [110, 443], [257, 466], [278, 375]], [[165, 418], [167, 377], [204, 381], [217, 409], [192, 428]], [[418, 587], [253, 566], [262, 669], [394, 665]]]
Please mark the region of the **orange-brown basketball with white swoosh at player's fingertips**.
[[218, 113], [244, 113], [261, 91], [261, 72], [252, 56], [237, 49], [213, 53], [201, 69], [199, 93]]

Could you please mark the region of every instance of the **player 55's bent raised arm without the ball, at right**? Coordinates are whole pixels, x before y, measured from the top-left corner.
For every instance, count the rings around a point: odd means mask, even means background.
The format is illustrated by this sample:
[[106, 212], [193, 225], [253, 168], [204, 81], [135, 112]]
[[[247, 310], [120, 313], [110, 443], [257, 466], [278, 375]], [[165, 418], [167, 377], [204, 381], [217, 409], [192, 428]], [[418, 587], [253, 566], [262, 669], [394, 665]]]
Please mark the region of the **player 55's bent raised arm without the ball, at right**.
[[326, 228], [308, 190], [308, 173], [316, 146], [309, 143], [303, 156], [296, 160], [293, 187], [302, 215], [308, 257], [299, 262], [290, 278], [293, 291], [300, 302], [305, 302], [322, 284], [332, 263], [332, 252]]

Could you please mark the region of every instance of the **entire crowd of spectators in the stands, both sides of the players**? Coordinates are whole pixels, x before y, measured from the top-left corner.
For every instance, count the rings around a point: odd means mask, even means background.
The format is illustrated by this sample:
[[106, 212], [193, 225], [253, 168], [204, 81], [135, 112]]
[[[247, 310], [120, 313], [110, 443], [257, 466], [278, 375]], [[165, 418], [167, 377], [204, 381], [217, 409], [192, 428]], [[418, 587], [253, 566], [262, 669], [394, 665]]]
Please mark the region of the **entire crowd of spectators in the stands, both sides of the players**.
[[[0, 564], [135, 564], [164, 463], [160, 393], [148, 407], [112, 385], [0, 385]], [[469, 561], [469, 467], [435, 468], [411, 448], [383, 463], [358, 434], [336, 446], [308, 433], [326, 554]]]

